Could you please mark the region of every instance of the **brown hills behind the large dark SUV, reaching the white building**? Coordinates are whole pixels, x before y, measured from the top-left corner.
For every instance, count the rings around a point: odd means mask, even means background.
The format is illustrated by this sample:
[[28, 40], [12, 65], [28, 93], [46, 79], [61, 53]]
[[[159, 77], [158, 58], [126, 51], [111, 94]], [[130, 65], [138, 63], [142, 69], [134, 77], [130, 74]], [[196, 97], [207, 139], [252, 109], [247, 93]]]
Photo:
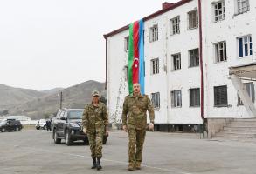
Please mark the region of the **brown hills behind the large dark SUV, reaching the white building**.
[[[84, 108], [85, 104], [90, 103], [92, 100], [92, 90], [99, 90], [101, 95], [106, 97], [106, 90], [104, 87], [104, 83], [90, 80], [64, 90], [59, 90], [63, 93], [62, 106], [63, 108]], [[12, 105], [9, 108], [9, 111], [12, 115], [22, 114], [36, 119], [56, 113], [59, 110], [59, 104], [60, 102], [57, 93], [50, 93], [24, 104]]]

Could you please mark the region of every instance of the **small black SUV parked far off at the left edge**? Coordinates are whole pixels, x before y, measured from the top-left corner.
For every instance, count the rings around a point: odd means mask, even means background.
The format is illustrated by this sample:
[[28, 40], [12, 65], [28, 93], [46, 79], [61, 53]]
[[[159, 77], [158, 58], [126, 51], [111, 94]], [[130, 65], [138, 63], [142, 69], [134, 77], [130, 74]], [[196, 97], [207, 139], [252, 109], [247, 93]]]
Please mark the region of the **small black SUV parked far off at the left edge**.
[[22, 124], [20, 121], [15, 119], [3, 120], [0, 123], [0, 131], [20, 131], [22, 129]]

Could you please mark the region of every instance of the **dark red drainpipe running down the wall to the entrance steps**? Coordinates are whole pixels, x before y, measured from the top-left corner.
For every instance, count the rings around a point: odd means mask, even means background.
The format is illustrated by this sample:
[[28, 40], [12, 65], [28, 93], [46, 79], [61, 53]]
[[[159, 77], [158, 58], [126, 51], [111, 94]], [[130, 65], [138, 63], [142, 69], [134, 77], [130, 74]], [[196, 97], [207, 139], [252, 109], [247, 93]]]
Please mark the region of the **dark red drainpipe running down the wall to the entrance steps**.
[[203, 45], [202, 45], [202, 7], [201, 0], [198, 0], [198, 16], [199, 16], [199, 61], [200, 61], [200, 72], [201, 72], [201, 95], [200, 95], [200, 107], [201, 107], [201, 118], [204, 124], [204, 71], [203, 71]]

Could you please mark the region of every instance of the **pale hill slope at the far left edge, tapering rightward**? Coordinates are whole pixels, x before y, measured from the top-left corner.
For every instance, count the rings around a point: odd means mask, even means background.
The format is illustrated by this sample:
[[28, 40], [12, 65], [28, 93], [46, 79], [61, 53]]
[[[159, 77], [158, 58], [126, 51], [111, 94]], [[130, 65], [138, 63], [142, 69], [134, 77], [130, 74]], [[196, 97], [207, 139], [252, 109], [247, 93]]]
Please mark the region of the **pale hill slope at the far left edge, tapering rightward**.
[[0, 84], [0, 110], [9, 108], [10, 105], [24, 104], [43, 96], [45, 96], [45, 93], [37, 90], [13, 88]]

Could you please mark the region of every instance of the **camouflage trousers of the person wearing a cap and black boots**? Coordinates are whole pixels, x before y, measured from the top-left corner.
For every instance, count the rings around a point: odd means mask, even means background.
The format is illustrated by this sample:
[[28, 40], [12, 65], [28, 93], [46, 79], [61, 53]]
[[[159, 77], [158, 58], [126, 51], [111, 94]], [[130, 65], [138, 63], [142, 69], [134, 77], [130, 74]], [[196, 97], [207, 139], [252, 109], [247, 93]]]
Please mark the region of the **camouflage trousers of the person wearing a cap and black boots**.
[[91, 149], [91, 157], [102, 157], [103, 131], [96, 130], [87, 132]]

